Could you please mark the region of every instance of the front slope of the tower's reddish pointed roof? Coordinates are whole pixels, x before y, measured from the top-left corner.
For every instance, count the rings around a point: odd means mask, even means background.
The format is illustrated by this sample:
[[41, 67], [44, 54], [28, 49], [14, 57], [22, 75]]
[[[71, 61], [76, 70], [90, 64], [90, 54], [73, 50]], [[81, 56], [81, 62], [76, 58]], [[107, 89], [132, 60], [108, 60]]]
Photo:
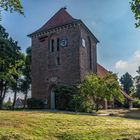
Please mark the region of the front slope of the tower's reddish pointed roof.
[[61, 8], [47, 23], [45, 23], [39, 30], [32, 34], [39, 33], [60, 25], [68, 24], [76, 21], [67, 11], [66, 8]]

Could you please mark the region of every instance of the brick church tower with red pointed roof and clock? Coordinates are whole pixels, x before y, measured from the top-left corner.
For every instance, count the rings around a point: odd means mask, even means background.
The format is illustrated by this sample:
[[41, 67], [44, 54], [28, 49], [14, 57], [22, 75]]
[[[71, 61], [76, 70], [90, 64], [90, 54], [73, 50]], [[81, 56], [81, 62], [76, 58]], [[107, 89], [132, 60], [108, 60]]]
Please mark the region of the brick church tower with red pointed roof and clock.
[[56, 85], [74, 85], [86, 74], [102, 68], [97, 65], [97, 38], [66, 8], [61, 8], [32, 39], [32, 97], [55, 108]]

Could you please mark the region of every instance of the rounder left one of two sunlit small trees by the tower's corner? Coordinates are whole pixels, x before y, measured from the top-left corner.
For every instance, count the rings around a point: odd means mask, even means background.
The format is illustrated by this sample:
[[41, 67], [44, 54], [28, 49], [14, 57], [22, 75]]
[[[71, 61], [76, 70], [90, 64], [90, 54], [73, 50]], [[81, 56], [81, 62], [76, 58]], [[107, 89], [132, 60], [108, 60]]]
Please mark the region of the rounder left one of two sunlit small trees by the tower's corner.
[[96, 110], [99, 109], [99, 103], [106, 98], [105, 95], [105, 82], [96, 75], [88, 75], [84, 81], [80, 84], [80, 94], [84, 96], [85, 100], [88, 100], [91, 105], [96, 104]]

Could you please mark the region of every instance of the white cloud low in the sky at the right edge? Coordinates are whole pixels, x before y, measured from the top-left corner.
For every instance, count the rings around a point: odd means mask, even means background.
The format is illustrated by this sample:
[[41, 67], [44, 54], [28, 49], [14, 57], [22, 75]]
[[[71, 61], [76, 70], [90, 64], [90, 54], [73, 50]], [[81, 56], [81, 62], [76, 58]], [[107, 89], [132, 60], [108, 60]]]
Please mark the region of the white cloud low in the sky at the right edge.
[[115, 71], [119, 75], [129, 72], [132, 76], [136, 76], [138, 66], [140, 66], [140, 51], [134, 52], [134, 54], [128, 60], [117, 61], [115, 63]]

